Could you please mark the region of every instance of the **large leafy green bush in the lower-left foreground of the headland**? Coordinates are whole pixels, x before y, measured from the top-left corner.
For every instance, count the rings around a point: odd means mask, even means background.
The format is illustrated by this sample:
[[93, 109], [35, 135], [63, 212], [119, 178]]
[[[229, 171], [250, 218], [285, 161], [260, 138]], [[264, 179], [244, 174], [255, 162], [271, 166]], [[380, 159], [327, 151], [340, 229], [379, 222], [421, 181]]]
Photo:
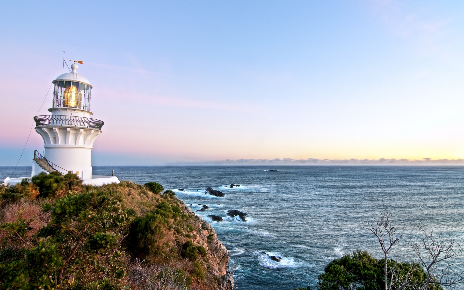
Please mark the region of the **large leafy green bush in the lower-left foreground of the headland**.
[[[121, 288], [126, 271], [117, 245], [129, 216], [114, 194], [70, 193], [43, 209], [50, 212], [50, 221], [39, 231], [38, 243], [24, 249], [24, 255], [0, 262], [1, 287]], [[2, 227], [19, 236], [28, 231], [24, 219]]]

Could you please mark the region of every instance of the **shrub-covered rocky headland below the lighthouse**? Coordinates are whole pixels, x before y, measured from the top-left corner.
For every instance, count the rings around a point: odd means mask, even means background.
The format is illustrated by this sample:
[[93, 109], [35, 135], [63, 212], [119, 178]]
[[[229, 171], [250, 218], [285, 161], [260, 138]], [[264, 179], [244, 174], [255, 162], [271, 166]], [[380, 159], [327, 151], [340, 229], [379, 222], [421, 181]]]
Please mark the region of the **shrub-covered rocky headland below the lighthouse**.
[[0, 187], [5, 289], [227, 289], [214, 229], [155, 182], [39, 174]]

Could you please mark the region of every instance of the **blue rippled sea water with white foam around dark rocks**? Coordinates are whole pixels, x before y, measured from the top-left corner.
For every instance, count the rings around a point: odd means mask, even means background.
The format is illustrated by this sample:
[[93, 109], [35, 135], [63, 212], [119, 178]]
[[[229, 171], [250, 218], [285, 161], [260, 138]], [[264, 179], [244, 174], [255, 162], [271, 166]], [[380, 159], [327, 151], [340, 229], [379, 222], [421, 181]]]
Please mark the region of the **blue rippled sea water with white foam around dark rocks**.
[[[13, 167], [0, 167], [0, 178]], [[138, 183], [157, 181], [173, 189], [211, 222], [235, 265], [237, 289], [293, 289], [314, 286], [324, 266], [345, 252], [363, 249], [381, 258], [364, 219], [393, 211], [397, 233], [417, 239], [425, 228], [464, 242], [464, 167], [459, 166], [94, 166], [93, 174]], [[266, 171], [276, 169], [278, 171]], [[30, 174], [19, 167], [16, 177]], [[240, 187], [229, 188], [231, 183]], [[213, 187], [225, 197], [205, 195]], [[185, 191], [179, 191], [184, 188]], [[226, 216], [248, 213], [247, 222]], [[208, 214], [222, 216], [213, 222]], [[275, 262], [267, 255], [282, 257]], [[413, 258], [404, 243], [392, 254]], [[453, 270], [464, 271], [464, 258]], [[314, 288], [314, 287], [313, 287]]]

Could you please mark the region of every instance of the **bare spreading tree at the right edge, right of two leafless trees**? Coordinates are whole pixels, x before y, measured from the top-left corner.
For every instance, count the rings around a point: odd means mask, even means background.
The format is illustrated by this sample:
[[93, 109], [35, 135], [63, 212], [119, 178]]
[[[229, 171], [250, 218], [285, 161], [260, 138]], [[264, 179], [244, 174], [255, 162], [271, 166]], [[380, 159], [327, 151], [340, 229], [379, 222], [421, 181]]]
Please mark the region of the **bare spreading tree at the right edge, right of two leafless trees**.
[[445, 240], [441, 233], [428, 233], [419, 222], [419, 230], [424, 233], [419, 242], [406, 241], [407, 245], [416, 253], [415, 259], [424, 267], [427, 277], [425, 283], [419, 288], [424, 290], [427, 285], [451, 286], [464, 282], [464, 271], [453, 274], [450, 270], [451, 259], [463, 254], [463, 248], [453, 238]]

